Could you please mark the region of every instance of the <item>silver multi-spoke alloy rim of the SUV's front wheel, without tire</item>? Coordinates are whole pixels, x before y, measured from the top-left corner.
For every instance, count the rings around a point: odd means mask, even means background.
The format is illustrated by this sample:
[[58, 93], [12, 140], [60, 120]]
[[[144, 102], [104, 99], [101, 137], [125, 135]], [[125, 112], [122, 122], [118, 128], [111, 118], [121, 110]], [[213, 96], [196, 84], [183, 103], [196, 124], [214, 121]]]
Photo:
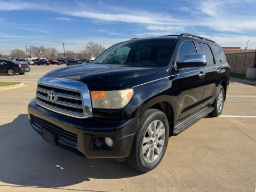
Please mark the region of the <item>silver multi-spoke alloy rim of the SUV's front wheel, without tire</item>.
[[163, 122], [155, 120], [149, 124], [142, 141], [142, 156], [147, 163], [153, 163], [161, 154], [165, 141]]

